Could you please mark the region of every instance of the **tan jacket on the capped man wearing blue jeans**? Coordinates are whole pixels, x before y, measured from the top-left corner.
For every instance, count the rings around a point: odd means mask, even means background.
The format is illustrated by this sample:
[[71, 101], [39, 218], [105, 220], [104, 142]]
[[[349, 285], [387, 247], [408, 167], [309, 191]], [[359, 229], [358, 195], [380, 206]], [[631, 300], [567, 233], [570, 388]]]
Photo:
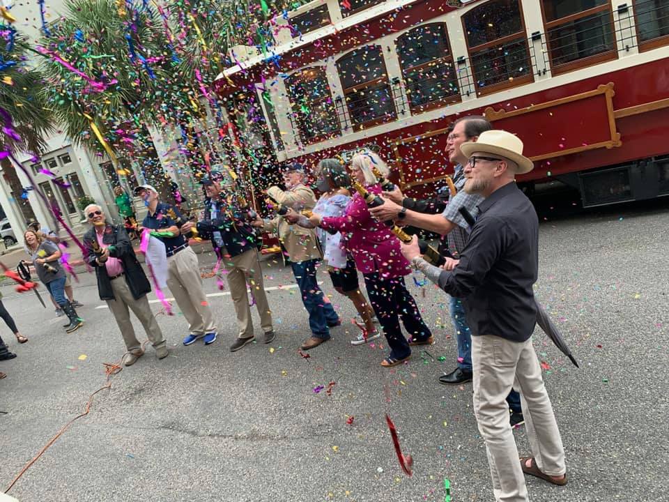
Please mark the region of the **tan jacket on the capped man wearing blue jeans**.
[[[305, 185], [297, 185], [290, 190], [281, 190], [277, 186], [272, 186], [268, 188], [267, 193], [279, 204], [293, 208], [295, 211], [311, 210], [316, 205], [314, 192]], [[265, 220], [263, 229], [279, 234], [279, 241], [286, 248], [291, 261], [300, 262], [323, 258], [315, 229], [291, 225], [279, 215], [273, 220]]]

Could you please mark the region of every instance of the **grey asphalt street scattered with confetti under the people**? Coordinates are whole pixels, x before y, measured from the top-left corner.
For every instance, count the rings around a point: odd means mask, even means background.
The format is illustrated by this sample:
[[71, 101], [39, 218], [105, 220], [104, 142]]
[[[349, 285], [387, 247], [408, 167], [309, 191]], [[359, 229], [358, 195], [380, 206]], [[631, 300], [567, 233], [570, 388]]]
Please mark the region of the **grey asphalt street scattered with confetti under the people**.
[[[541, 206], [536, 295], [560, 327], [580, 369], [540, 330], [534, 344], [567, 451], [569, 485], [528, 478], [534, 501], [668, 501], [669, 200], [590, 211]], [[213, 263], [200, 255], [203, 271]], [[289, 268], [263, 264], [277, 338], [236, 353], [226, 289], [205, 280], [219, 337], [184, 347], [185, 319], [152, 303], [170, 356], [151, 347], [95, 395], [91, 411], [63, 432], [17, 480], [21, 502], [493, 501], [471, 384], [438, 383], [454, 367], [447, 296], [420, 275], [408, 284], [436, 344], [385, 370], [385, 342], [353, 347], [353, 306], [319, 273], [344, 325], [332, 340], [298, 353], [307, 315]], [[3, 302], [30, 340], [0, 327], [14, 360], [0, 362], [0, 491], [105, 385], [123, 354], [121, 334], [82, 273], [75, 297], [84, 328], [32, 293], [3, 286]], [[155, 296], [151, 294], [151, 299]], [[48, 305], [48, 304], [47, 304]], [[254, 312], [256, 335], [261, 335]], [[146, 339], [136, 323], [141, 340]], [[385, 413], [413, 476], [401, 471]], [[351, 419], [352, 418], [352, 419]], [[349, 423], [351, 422], [351, 423]], [[514, 432], [529, 452], [524, 427]]]

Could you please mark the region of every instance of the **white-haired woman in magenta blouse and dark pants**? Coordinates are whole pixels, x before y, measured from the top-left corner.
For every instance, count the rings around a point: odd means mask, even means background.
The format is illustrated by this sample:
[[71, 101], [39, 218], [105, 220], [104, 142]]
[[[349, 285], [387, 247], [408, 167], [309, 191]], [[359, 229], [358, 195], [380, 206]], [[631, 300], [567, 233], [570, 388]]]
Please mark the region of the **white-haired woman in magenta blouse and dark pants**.
[[[358, 153], [351, 160], [353, 178], [365, 185], [368, 192], [380, 194], [381, 187], [373, 167], [381, 175], [388, 175], [387, 165], [376, 153]], [[336, 230], [348, 235], [348, 249], [353, 254], [355, 266], [364, 277], [369, 301], [390, 346], [390, 354], [381, 362], [381, 366], [399, 365], [410, 357], [410, 345], [433, 341], [413, 296], [406, 289], [404, 276], [411, 270], [409, 262], [400, 252], [399, 240], [383, 222], [372, 218], [367, 203], [359, 193], [353, 195], [344, 215], [323, 217], [314, 213], [309, 220], [325, 230]], [[409, 340], [402, 334], [400, 318], [410, 335]]]

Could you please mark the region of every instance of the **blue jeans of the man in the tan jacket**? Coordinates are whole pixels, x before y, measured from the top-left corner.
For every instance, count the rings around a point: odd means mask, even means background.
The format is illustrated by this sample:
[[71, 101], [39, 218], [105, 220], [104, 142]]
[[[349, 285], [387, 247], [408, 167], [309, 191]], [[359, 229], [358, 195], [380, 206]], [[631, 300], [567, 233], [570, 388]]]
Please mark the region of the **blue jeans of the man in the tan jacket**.
[[330, 329], [328, 325], [334, 326], [339, 323], [339, 316], [334, 312], [332, 303], [323, 301], [323, 291], [316, 282], [316, 264], [317, 259], [300, 261], [295, 263], [291, 261], [293, 275], [300, 287], [302, 294], [302, 303], [305, 304], [309, 312], [309, 328], [316, 338], [328, 340], [330, 338]]

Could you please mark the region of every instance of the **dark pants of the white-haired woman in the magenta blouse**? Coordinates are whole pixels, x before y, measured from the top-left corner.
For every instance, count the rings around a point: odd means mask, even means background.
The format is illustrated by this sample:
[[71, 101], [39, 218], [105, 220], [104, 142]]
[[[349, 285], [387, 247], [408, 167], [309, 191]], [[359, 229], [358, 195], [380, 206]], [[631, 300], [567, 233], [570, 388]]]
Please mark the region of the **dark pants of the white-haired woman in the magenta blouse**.
[[367, 287], [369, 303], [376, 313], [385, 339], [390, 346], [390, 357], [406, 358], [411, 353], [411, 349], [402, 335], [399, 326], [400, 318], [404, 329], [413, 340], [425, 340], [432, 333], [420, 317], [416, 302], [406, 289], [404, 277], [385, 279], [377, 272], [362, 274], [362, 277]]

